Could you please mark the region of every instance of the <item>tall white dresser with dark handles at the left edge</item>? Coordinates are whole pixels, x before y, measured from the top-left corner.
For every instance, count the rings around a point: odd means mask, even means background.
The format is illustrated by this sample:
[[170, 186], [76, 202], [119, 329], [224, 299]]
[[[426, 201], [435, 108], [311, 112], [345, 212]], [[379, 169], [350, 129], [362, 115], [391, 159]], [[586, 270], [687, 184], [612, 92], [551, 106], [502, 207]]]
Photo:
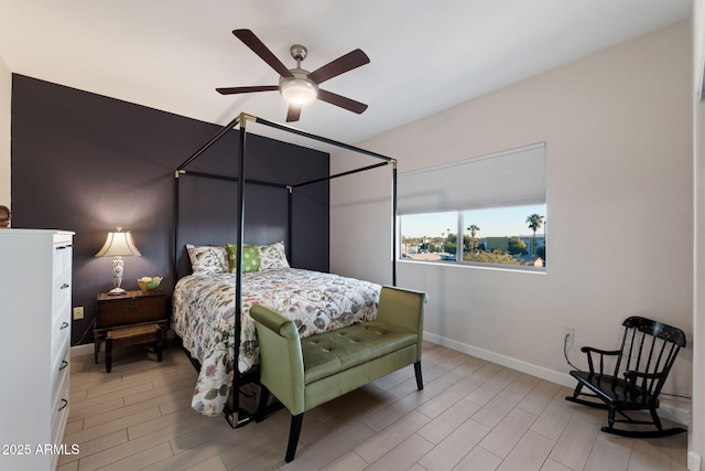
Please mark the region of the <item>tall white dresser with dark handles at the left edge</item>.
[[53, 470], [68, 419], [73, 234], [0, 229], [0, 470]]

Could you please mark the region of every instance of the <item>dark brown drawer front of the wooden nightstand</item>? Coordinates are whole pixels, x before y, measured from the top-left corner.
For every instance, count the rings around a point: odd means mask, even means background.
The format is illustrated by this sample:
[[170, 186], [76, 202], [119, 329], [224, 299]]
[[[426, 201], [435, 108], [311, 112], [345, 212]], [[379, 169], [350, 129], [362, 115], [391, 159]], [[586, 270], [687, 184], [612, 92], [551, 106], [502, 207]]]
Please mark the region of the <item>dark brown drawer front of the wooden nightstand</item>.
[[[102, 298], [102, 299], [101, 299]], [[166, 320], [164, 295], [99, 297], [96, 329]]]

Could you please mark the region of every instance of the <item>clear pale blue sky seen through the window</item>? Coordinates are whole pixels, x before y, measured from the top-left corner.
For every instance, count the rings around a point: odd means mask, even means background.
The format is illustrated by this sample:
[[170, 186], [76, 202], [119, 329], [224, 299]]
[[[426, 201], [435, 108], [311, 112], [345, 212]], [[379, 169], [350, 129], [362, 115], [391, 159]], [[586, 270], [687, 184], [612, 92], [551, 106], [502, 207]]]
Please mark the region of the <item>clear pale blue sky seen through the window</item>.
[[[502, 208], [488, 208], [466, 211], [464, 227], [470, 224], [479, 226], [480, 231], [476, 237], [503, 237], [517, 235], [531, 235], [533, 232], [525, 223], [531, 214], [540, 214], [547, 221], [545, 204], [531, 206], [513, 206]], [[447, 229], [457, 233], [456, 213], [417, 214], [402, 216], [401, 231], [406, 237], [441, 237], [445, 236]], [[543, 235], [542, 226], [536, 235]]]

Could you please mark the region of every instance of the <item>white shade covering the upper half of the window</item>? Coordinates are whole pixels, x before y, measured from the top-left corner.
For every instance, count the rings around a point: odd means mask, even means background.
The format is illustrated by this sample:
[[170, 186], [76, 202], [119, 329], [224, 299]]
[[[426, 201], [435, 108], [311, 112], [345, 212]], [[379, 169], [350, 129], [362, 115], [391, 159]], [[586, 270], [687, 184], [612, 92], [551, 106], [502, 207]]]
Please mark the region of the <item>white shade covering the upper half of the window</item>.
[[400, 172], [397, 212], [441, 213], [546, 201], [546, 146], [540, 142], [411, 172]]

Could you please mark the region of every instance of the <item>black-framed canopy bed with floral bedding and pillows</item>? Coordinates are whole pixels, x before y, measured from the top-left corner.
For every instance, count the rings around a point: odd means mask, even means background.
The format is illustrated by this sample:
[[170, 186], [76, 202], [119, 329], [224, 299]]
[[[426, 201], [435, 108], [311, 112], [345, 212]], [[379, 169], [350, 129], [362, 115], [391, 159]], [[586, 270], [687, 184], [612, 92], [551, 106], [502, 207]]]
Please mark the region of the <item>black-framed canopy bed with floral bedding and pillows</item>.
[[[295, 135], [296, 139], [311, 139], [332, 146], [334, 149], [362, 154], [365, 159], [369, 157], [373, 163], [336, 174], [330, 174], [329, 167], [326, 167], [325, 176], [315, 175], [313, 179], [299, 179], [300, 181], [285, 183], [281, 182], [281, 178], [279, 181], [249, 178], [249, 173], [246, 173], [248, 128], [254, 122], [268, 129]], [[235, 156], [237, 167], [229, 169], [237, 171], [235, 175], [219, 171], [193, 170], [194, 162], [200, 160], [206, 151], [224, 137], [231, 139], [234, 131], [239, 131]], [[227, 158], [231, 159], [231, 156], [228, 154]], [[239, 393], [243, 385], [257, 383], [259, 379], [259, 351], [254, 322], [249, 317], [249, 308], [253, 304], [263, 304], [285, 312], [294, 320], [302, 336], [375, 319], [381, 289], [379, 285], [324, 272], [327, 270], [290, 266], [295, 235], [292, 231], [292, 222], [297, 214], [299, 203], [295, 196], [304, 189], [312, 185], [326, 185], [325, 210], [327, 211], [327, 191], [330, 180], [389, 164], [392, 168], [391, 248], [392, 254], [397, 254], [394, 236], [397, 233], [397, 161], [392, 158], [240, 114], [176, 169], [173, 261], [177, 281], [174, 288], [172, 327], [182, 339], [184, 351], [199, 372], [192, 400], [193, 408], [210, 416], [223, 411], [231, 427], [240, 427], [250, 421], [252, 414], [242, 409]], [[189, 240], [188, 235], [184, 235], [188, 231], [184, 227], [186, 225], [182, 215], [184, 196], [181, 193], [184, 181], [188, 176], [206, 179], [208, 182], [206, 186], [215, 186], [216, 182], [223, 181], [234, 182], [237, 185], [235, 204], [218, 202], [219, 205], [237, 206], [237, 227], [234, 239], [198, 245]], [[241, 184], [242, 182], [245, 184]], [[249, 189], [247, 192], [246, 186]], [[286, 234], [282, 240], [260, 239], [246, 243], [246, 196], [250, 190], [256, 191], [254, 189], [260, 186], [282, 191], [288, 195], [283, 211]], [[221, 195], [219, 199], [223, 200]], [[202, 222], [194, 224], [203, 225]], [[185, 257], [184, 253], [188, 253], [188, 257]], [[184, 258], [191, 260], [191, 272], [184, 270]], [[395, 256], [392, 260], [392, 285], [395, 286]]]

